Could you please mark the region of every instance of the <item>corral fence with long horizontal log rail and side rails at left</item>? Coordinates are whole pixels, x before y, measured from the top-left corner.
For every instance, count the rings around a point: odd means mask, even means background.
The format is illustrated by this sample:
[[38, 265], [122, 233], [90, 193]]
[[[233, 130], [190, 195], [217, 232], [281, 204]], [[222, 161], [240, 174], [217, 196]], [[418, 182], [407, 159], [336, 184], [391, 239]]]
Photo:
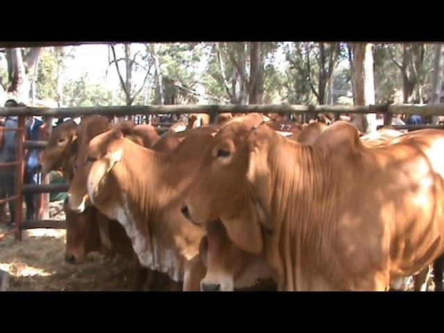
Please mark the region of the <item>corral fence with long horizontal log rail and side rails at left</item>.
[[[3, 239], [8, 234], [15, 234], [15, 239], [22, 239], [22, 230], [31, 228], [66, 228], [65, 221], [54, 221], [49, 219], [25, 220], [23, 219], [23, 195], [24, 194], [49, 194], [66, 192], [69, 188], [67, 184], [39, 184], [24, 185], [24, 149], [44, 150], [45, 141], [25, 140], [25, 119], [30, 116], [42, 116], [45, 123], [51, 123], [51, 119], [63, 119], [67, 117], [87, 117], [95, 114], [108, 117], [133, 117], [142, 121], [155, 115], [176, 115], [191, 113], [207, 113], [210, 115], [210, 123], [216, 123], [218, 116], [223, 112], [232, 113], [284, 113], [284, 114], [321, 114], [333, 113], [335, 119], [339, 119], [340, 114], [382, 114], [384, 116], [384, 126], [392, 126], [391, 120], [394, 114], [418, 114], [425, 116], [444, 115], [444, 104], [391, 104], [391, 105], [150, 105], [150, 106], [110, 106], [94, 108], [0, 108], [0, 117], [18, 117], [17, 128], [3, 128], [1, 130], [17, 131], [17, 160], [15, 162], [0, 163], [2, 167], [16, 167], [15, 172], [15, 194], [0, 200], [0, 204], [10, 200], [15, 200], [15, 229], [0, 234]], [[164, 133], [171, 126], [172, 122], [161, 123], [156, 126], [159, 133]], [[420, 128], [442, 128], [442, 125], [405, 125], [392, 126], [395, 129], [418, 130]], [[51, 130], [51, 128], [49, 128]], [[46, 181], [47, 182], [47, 181]], [[0, 186], [3, 186], [0, 184]], [[47, 207], [46, 207], [47, 208]]]

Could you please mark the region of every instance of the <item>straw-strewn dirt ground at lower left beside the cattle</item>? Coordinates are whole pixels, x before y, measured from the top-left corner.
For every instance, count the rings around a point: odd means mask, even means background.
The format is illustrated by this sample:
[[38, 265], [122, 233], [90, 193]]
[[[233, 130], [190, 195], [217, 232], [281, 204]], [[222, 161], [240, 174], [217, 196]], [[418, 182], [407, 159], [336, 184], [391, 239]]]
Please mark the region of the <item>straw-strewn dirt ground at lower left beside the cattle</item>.
[[[51, 219], [65, 219], [58, 203]], [[51, 216], [56, 215], [56, 216]], [[0, 224], [0, 233], [5, 225]], [[10, 273], [10, 291], [130, 291], [132, 270], [119, 258], [90, 253], [83, 264], [65, 262], [66, 231], [24, 230], [23, 240], [0, 241], [0, 269]]]

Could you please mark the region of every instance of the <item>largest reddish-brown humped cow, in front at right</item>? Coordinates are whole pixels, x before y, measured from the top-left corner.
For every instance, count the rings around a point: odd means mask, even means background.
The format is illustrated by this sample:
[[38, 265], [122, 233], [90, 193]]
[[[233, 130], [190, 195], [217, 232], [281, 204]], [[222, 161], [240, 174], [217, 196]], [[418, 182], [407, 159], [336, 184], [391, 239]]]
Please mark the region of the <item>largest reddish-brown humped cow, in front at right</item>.
[[387, 290], [444, 246], [444, 134], [393, 141], [365, 148], [338, 121], [300, 145], [231, 123], [207, 149], [182, 214], [198, 225], [221, 219], [236, 246], [266, 257], [279, 290]]

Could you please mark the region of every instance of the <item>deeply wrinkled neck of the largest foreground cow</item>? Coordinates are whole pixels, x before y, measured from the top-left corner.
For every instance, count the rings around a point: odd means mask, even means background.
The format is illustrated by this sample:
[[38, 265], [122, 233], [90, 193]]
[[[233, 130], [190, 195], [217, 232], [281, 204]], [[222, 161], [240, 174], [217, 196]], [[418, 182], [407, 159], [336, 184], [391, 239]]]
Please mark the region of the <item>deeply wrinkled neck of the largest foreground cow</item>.
[[[331, 265], [330, 230], [335, 197], [325, 198], [332, 184], [328, 152], [321, 145], [301, 145], [278, 137], [271, 146], [268, 168], [271, 182], [271, 214], [274, 229], [271, 240], [275, 253], [268, 253], [278, 263], [280, 289], [324, 289], [315, 278]], [[326, 268], [327, 267], [327, 268]], [[311, 276], [312, 281], [305, 280]]]

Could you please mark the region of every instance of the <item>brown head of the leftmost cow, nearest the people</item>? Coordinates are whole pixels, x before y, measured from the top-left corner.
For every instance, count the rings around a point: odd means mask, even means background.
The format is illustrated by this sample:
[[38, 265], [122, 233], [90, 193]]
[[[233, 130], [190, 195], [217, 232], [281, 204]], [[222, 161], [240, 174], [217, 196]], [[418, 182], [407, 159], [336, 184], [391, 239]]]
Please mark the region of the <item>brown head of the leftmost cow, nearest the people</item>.
[[40, 157], [43, 175], [49, 171], [61, 169], [67, 155], [77, 153], [76, 128], [77, 124], [69, 120], [53, 129], [48, 144]]

